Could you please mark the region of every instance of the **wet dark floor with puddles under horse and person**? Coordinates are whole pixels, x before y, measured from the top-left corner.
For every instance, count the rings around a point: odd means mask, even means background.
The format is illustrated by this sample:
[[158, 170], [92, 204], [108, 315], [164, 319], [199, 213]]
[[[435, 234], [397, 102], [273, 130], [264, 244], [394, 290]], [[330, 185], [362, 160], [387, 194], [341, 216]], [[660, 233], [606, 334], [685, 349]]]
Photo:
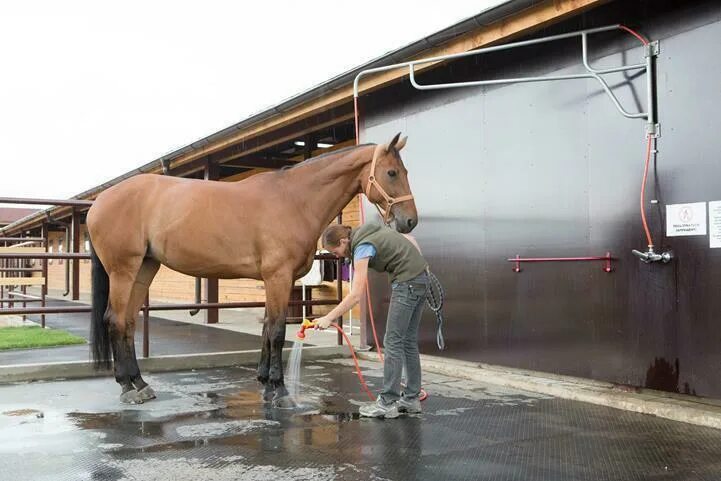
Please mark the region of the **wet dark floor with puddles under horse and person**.
[[435, 374], [422, 415], [361, 419], [348, 360], [302, 371], [287, 410], [244, 366], [148, 375], [137, 406], [109, 378], [2, 385], [0, 479], [721, 479], [719, 430]]

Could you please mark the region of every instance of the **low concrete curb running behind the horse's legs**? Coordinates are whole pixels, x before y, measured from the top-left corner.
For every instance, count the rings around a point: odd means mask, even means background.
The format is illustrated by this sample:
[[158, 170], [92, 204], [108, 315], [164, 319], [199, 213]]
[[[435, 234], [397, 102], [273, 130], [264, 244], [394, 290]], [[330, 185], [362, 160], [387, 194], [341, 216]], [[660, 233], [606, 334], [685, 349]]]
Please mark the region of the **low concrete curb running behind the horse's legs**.
[[[283, 349], [287, 358], [290, 348]], [[183, 371], [187, 369], [209, 369], [215, 367], [256, 364], [259, 349], [249, 351], [211, 352], [200, 354], [179, 354], [138, 359], [143, 372]], [[303, 359], [325, 359], [347, 357], [345, 346], [305, 346]], [[53, 379], [78, 379], [87, 377], [112, 376], [111, 371], [95, 371], [89, 361], [52, 362], [40, 364], [15, 364], [0, 366], [0, 383], [19, 381], [46, 381]]]

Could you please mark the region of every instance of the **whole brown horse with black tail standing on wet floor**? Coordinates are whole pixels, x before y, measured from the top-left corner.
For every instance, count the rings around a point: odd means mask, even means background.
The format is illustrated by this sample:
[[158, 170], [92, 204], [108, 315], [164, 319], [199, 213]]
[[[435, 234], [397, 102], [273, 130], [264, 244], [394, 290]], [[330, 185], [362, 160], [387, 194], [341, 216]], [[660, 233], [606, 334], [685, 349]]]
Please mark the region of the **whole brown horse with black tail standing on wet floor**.
[[[266, 319], [258, 363], [264, 400], [285, 405], [282, 348], [294, 281], [317, 240], [354, 195], [365, 192], [399, 232], [418, 217], [399, 151], [406, 138], [321, 155], [239, 182], [138, 175], [101, 193], [88, 212], [93, 246], [92, 353], [110, 368], [122, 402], [155, 397], [135, 354], [135, 321], [160, 264], [196, 277], [262, 280]], [[388, 219], [386, 219], [388, 220]]]

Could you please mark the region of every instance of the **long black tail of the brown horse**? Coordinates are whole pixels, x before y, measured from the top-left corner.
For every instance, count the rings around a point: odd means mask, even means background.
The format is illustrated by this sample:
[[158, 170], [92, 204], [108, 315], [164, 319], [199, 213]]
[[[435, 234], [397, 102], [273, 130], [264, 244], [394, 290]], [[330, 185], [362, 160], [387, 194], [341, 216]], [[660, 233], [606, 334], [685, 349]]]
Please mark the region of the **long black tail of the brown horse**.
[[108, 296], [110, 294], [110, 278], [105, 266], [100, 262], [95, 249], [90, 248], [92, 259], [92, 292], [93, 308], [90, 320], [91, 351], [95, 369], [110, 369], [110, 329], [105, 319], [105, 311], [108, 308]]

